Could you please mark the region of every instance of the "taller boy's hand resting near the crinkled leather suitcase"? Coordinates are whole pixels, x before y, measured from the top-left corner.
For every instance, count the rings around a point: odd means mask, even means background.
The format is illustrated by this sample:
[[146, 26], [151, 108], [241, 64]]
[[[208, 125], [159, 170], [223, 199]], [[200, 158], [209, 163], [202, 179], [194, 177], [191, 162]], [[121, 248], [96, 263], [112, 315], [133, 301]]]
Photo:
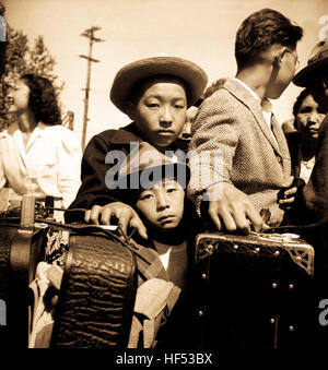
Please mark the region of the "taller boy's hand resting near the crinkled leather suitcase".
[[114, 202], [104, 206], [94, 205], [92, 210], [87, 210], [84, 215], [86, 223], [91, 222], [95, 225], [110, 225], [113, 218], [117, 219], [125, 235], [128, 234], [128, 227], [131, 227], [136, 228], [142, 238], [148, 239], [147, 228], [137, 212], [128, 204]]

